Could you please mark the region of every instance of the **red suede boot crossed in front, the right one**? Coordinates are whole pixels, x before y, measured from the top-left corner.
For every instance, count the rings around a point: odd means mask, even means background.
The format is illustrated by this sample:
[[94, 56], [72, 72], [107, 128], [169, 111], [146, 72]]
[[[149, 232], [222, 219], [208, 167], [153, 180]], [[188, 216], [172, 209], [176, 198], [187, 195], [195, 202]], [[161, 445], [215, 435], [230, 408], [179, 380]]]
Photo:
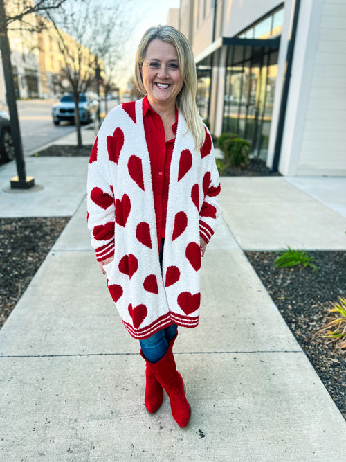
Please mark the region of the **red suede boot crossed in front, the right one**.
[[176, 370], [172, 347], [174, 339], [170, 342], [165, 356], [156, 363], [147, 362], [147, 368], [156, 377], [170, 398], [171, 411], [174, 420], [181, 427], [188, 425], [191, 408], [184, 393], [183, 378]]

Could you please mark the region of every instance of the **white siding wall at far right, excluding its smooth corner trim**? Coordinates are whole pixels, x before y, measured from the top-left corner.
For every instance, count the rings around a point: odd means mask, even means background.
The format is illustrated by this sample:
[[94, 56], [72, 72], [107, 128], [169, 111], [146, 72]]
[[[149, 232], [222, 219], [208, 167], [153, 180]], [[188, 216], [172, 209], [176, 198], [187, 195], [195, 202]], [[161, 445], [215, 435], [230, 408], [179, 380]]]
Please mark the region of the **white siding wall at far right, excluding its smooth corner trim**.
[[323, 0], [321, 16], [295, 175], [346, 175], [345, 0]]

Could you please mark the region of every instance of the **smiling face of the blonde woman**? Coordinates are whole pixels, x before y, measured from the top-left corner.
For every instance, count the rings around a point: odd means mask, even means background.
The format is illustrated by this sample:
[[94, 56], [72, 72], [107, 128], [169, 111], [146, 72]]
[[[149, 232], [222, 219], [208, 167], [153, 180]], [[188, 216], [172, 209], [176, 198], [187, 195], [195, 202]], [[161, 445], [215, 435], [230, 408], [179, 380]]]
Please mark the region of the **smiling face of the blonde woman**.
[[140, 73], [152, 108], [174, 108], [176, 96], [183, 88], [175, 46], [163, 40], [152, 40], [147, 46]]

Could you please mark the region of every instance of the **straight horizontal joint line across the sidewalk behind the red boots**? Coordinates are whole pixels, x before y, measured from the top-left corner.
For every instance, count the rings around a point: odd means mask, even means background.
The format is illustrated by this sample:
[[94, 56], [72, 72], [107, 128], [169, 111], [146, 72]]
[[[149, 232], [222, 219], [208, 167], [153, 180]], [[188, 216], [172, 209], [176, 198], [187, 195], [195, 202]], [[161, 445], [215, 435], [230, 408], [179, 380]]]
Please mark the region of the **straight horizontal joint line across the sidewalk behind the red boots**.
[[[262, 353], [303, 353], [302, 350], [253, 350], [253, 351], [181, 351], [174, 355], [253, 355]], [[304, 353], [303, 353], [304, 354]], [[61, 355], [0, 355], [1, 358], [37, 358], [37, 357], [88, 357], [88, 356], [137, 356], [139, 353], [71, 353]]]

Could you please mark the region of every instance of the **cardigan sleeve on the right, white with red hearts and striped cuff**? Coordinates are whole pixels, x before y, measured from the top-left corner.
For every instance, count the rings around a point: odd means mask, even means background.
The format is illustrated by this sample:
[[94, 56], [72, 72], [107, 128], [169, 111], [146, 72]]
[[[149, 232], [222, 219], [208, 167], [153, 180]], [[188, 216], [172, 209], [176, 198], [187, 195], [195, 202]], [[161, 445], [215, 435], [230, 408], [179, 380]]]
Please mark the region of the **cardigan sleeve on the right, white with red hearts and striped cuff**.
[[206, 243], [215, 233], [217, 217], [219, 217], [218, 195], [221, 191], [219, 172], [213, 159], [212, 171], [207, 172], [203, 179], [204, 200], [199, 212], [199, 235]]

